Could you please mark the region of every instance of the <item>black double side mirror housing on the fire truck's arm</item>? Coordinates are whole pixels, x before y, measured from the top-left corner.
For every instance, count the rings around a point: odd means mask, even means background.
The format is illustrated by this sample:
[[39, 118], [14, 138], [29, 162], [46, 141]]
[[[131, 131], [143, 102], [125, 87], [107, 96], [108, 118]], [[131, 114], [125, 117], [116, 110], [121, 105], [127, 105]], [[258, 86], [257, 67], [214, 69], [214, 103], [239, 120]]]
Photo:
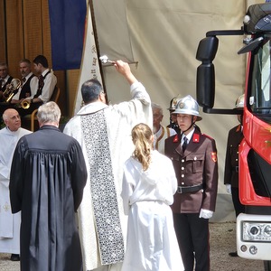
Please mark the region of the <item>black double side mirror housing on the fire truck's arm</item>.
[[212, 61], [218, 51], [219, 39], [216, 36], [201, 40], [196, 59], [201, 61], [197, 69], [197, 101], [201, 107], [212, 108], [215, 98], [215, 69]]

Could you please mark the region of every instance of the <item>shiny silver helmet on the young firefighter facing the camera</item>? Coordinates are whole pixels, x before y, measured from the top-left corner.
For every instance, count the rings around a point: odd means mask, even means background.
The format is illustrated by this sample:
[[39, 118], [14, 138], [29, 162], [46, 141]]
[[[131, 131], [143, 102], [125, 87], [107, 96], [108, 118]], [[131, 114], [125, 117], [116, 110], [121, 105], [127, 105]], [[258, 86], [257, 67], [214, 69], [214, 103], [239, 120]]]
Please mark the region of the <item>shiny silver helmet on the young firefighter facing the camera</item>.
[[199, 104], [192, 96], [187, 95], [181, 98], [175, 106], [173, 114], [187, 114], [197, 117], [197, 121], [201, 120], [202, 117], [199, 113]]

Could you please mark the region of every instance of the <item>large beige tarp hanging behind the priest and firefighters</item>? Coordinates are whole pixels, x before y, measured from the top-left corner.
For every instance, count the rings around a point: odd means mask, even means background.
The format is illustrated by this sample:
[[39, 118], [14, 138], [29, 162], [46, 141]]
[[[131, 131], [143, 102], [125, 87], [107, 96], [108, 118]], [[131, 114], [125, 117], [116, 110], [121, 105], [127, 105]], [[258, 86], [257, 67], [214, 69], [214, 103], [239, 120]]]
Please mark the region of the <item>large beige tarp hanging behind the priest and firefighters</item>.
[[[166, 110], [170, 100], [181, 94], [196, 98], [195, 59], [199, 42], [211, 30], [239, 30], [248, 5], [263, 1], [243, 0], [94, 0], [100, 54], [110, 59], [138, 61], [132, 70], [152, 101]], [[243, 36], [218, 36], [215, 107], [234, 107], [244, 92], [246, 56], [238, 55]], [[115, 68], [104, 67], [107, 96], [112, 103], [129, 99], [126, 81]], [[223, 184], [228, 131], [238, 124], [235, 116], [201, 112], [201, 131], [215, 138], [218, 147], [220, 185], [215, 221], [235, 220], [231, 197]]]

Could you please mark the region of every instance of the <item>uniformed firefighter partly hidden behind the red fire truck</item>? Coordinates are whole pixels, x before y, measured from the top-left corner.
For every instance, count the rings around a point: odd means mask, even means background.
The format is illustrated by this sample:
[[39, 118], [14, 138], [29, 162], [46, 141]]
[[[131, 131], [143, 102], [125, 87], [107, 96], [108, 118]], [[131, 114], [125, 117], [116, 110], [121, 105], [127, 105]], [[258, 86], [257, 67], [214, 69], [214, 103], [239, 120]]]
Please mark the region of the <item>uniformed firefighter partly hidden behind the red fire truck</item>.
[[[224, 171], [224, 184], [227, 187], [227, 192], [231, 194], [232, 202], [235, 210], [236, 217], [241, 212], [245, 212], [245, 206], [239, 200], [238, 189], [238, 148], [244, 138], [242, 126], [242, 108], [244, 107], [244, 95], [241, 95], [237, 100], [235, 107], [240, 109], [240, 114], [237, 116], [239, 125], [229, 130], [226, 158], [225, 158], [225, 171]], [[238, 257], [237, 252], [229, 252], [229, 256]]]

